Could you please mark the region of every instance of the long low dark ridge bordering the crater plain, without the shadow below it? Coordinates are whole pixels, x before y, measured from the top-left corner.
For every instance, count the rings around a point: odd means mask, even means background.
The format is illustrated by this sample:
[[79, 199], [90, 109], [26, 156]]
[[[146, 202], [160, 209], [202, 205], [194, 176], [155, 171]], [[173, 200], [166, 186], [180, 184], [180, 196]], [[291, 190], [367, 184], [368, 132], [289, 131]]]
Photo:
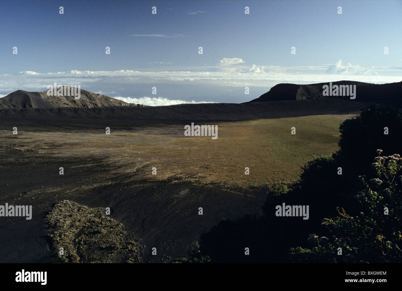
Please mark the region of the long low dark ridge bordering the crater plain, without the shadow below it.
[[334, 98], [262, 103], [178, 104], [170, 106], [98, 108], [24, 108], [0, 110], [0, 118], [94, 118], [128, 120], [250, 120], [358, 112], [364, 104]]

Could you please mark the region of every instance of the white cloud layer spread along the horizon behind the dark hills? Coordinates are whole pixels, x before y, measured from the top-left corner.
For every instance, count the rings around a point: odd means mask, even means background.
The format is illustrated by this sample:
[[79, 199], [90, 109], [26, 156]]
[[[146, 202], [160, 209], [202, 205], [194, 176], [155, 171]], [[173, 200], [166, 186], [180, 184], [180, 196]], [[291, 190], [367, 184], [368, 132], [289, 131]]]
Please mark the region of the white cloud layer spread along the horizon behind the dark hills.
[[[199, 86], [201, 90], [209, 88], [205, 94], [199, 94], [204, 100], [197, 102], [245, 102], [258, 96], [244, 96], [244, 87], [259, 88], [258, 94], [267, 92], [278, 83], [324, 83], [330, 81], [361, 81], [367, 83], [392, 83], [402, 80], [402, 67], [360, 67], [350, 63], [343, 65], [342, 60], [335, 64], [320, 66], [274, 66], [244, 65], [242, 58], [223, 58], [214, 65], [175, 67], [170, 62], [160, 60], [152, 69], [119, 71], [78, 71], [38, 73], [21, 71], [16, 74], [0, 75], [0, 96], [16, 90], [45, 91], [47, 85], [57, 82], [59, 85], [81, 85], [81, 89], [91, 92], [112, 92], [110, 97], [127, 98], [127, 102], [148, 102], [149, 105], [171, 105], [177, 102], [191, 102], [195, 97], [192, 92], [185, 94], [187, 87]], [[177, 94], [166, 95], [158, 91], [160, 98], [151, 95], [151, 90], [136, 92], [135, 88], [165, 86], [179, 87]], [[186, 87], [187, 86], [187, 87]], [[213, 99], [215, 89], [238, 88], [236, 96], [228, 93], [225, 98]], [[134, 90], [133, 90], [134, 89]], [[148, 89], [147, 89], [148, 90]], [[241, 96], [238, 92], [243, 91]], [[231, 90], [226, 90], [231, 92]], [[257, 90], [254, 90], [256, 92]], [[149, 96], [148, 95], [149, 92]], [[163, 92], [163, 91], [162, 91]], [[180, 94], [182, 95], [180, 95]], [[201, 92], [203, 93], [203, 92]], [[144, 96], [145, 95], [145, 96]], [[222, 94], [221, 94], [222, 95]], [[204, 97], [202, 97], [204, 96]], [[150, 98], [150, 99], [141, 99]], [[121, 99], [123, 100], [123, 99]], [[138, 100], [141, 100], [139, 102]], [[125, 100], [124, 100], [125, 101]], [[147, 104], [144, 104], [147, 105]]]

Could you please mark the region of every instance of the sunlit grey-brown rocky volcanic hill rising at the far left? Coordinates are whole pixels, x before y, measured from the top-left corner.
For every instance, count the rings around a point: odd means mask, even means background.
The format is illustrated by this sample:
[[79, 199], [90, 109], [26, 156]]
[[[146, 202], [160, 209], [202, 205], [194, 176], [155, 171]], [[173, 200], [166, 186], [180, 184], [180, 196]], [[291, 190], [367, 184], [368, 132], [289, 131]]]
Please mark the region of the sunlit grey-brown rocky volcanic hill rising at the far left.
[[80, 91], [80, 99], [77, 100], [74, 99], [74, 96], [47, 96], [47, 90], [43, 92], [27, 92], [18, 90], [0, 98], [0, 109], [61, 107], [92, 108], [106, 106], [133, 107], [144, 105], [127, 103], [86, 90]]

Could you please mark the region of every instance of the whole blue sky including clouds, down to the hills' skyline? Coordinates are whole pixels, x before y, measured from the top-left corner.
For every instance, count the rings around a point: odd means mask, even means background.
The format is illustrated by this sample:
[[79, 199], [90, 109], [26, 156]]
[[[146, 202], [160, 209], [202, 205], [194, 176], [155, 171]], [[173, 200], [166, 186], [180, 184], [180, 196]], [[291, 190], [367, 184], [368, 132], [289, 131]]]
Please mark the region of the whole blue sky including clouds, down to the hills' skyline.
[[148, 105], [245, 102], [284, 82], [401, 81], [401, 16], [402, 1], [2, 1], [0, 96], [57, 81]]

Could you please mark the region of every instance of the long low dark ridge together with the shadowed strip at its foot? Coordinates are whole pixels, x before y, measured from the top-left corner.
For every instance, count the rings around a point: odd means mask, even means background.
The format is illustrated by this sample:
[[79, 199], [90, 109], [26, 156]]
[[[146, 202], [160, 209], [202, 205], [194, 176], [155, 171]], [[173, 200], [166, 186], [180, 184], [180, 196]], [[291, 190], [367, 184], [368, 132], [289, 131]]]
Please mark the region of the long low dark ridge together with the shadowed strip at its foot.
[[[246, 104], [211, 103], [171, 106], [113, 106], [96, 108], [23, 108], [0, 110], [0, 129], [18, 124], [35, 129], [47, 124], [57, 128], [91, 128], [94, 124], [131, 128], [135, 124], [177, 122], [240, 121], [260, 118], [285, 118], [322, 114], [358, 114], [369, 102], [352, 102], [336, 98], [252, 102]], [[104, 126], [103, 126], [104, 127]]]

